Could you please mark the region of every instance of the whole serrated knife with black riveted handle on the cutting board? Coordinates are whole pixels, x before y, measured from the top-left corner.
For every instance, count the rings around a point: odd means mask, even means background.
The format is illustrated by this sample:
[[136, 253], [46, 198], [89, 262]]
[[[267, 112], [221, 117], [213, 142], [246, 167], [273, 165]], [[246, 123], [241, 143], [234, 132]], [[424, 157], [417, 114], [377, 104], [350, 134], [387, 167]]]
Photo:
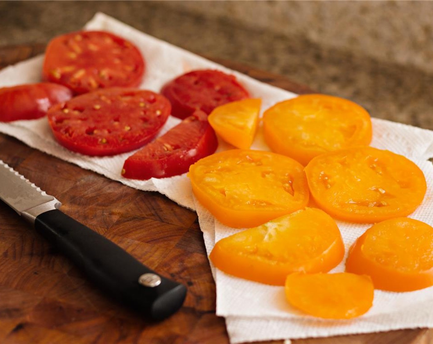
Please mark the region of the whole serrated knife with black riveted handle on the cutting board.
[[89, 280], [154, 319], [181, 308], [186, 287], [160, 276], [112, 241], [59, 210], [61, 203], [0, 160], [0, 199], [65, 254]]

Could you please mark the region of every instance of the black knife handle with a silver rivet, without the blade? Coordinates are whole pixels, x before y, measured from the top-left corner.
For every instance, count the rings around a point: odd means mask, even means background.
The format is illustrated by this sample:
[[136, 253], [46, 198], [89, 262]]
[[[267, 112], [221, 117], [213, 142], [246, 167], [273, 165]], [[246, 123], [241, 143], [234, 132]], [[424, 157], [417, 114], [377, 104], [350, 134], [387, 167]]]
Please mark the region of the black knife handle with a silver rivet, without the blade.
[[[182, 306], [186, 296], [184, 285], [159, 276], [112, 241], [60, 210], [38, 215], [35, 228], [92, 282], [146, 316], [161, 320]], [[140, 284], [139, 277], [145, 273], [158, 275], [161, 283], [153, 287]]]

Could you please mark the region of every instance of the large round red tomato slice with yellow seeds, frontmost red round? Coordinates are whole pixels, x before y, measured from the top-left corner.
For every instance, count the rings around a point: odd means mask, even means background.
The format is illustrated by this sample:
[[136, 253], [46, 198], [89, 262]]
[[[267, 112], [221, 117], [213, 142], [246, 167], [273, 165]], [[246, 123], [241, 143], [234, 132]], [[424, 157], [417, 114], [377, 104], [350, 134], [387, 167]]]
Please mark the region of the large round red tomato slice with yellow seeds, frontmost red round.
[[160, 94], [113, 87], [57, 104], [47, 115], [61, 145], [101, 156], [132, 151], [151, 141], [170, 111], [170, 102]]

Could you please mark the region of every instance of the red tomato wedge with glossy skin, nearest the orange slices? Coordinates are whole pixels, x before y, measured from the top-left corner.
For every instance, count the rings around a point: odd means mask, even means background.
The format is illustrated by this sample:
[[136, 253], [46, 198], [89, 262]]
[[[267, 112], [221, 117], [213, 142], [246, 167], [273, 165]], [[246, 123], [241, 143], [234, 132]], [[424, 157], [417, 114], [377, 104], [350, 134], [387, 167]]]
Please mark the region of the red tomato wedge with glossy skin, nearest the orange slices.
[[183, 174], [191, 164], [212, 154], [218, 141], [207, 115], [196, 111], [160, 138], [126, 159], [122, 175], [146, 180]]

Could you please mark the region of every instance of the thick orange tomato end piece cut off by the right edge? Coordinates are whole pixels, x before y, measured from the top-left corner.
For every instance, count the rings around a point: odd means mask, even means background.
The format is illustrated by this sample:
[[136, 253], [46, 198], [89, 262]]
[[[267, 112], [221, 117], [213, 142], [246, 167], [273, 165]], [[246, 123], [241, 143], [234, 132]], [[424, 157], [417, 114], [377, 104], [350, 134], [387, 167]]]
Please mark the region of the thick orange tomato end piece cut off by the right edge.
[[379, 222], [352, 245], [346, 271], [371, 276], [376, 289], [433, 286], [433, 228], [408, 218]]

